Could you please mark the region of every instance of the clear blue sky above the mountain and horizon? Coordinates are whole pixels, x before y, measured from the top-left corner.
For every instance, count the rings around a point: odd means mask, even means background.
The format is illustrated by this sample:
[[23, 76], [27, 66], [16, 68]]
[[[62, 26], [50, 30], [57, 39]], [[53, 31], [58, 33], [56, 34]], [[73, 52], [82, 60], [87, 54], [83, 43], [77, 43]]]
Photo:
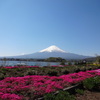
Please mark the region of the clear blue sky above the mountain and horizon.
[[0, 0], [0, 56], [51, 45], [100, 55], [100, 0]]

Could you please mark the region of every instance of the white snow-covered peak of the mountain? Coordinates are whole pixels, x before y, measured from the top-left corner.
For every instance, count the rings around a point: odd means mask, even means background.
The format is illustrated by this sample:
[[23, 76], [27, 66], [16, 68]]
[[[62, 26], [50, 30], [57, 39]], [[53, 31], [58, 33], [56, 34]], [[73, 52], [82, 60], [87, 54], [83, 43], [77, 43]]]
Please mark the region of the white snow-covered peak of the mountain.
[[58, 48], [55, 45], [52, 45], [52, 46], [50, 46], [50, 47], [48, 47], [46, 49], [41, 50], [40, 52], [63, 52], [63, 53], [65, 53], [66, 51]]

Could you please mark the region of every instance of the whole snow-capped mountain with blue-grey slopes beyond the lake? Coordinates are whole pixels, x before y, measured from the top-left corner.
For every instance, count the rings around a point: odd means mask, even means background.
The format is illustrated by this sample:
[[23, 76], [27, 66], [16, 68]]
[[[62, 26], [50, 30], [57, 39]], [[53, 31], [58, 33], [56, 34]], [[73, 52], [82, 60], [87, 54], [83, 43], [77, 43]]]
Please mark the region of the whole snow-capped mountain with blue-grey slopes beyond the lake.
[[89, 58], [89, 56], [83, 56], [83, 55], [66, 52], [55, 45], [52, 45], [36, 53], [14, 56], [14, 58], [33, 58], [33, 59], [46, 59], [49, 57], [61, 57], [68, 60]]

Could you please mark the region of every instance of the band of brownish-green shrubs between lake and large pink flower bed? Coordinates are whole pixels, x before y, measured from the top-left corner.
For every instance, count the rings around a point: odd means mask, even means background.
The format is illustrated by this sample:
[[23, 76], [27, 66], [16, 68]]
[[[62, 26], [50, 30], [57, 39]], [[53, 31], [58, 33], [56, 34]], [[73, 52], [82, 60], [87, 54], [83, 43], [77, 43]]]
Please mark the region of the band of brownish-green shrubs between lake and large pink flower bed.
[[70, 66], [64, 66], [64, 67], [30, 67], [30, 68], [0, 68], [0, 80], [4, 79], [5, 77], [22, 77], [26, 75], [48, 75], [48, 76], [60, 76], [64, 74], [69, 73], [77, 73], [80, 71], [86, 71], [86, 70], [94, 70], [98, 69], [100, 66], [83, 66], [83, 65], [70, 65]]

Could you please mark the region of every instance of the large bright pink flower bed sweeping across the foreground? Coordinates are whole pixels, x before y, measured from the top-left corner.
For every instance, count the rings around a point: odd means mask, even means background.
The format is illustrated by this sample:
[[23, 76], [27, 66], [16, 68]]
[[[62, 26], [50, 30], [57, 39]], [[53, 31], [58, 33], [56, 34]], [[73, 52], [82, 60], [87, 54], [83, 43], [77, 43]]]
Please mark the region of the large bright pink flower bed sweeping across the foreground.
[[87, 78], [100, 75], [99, 70], [72, 73], [61, 76], [31, 75], [7, 77], [0, 81], [1, 100], [30, 100], [77, 84]]

